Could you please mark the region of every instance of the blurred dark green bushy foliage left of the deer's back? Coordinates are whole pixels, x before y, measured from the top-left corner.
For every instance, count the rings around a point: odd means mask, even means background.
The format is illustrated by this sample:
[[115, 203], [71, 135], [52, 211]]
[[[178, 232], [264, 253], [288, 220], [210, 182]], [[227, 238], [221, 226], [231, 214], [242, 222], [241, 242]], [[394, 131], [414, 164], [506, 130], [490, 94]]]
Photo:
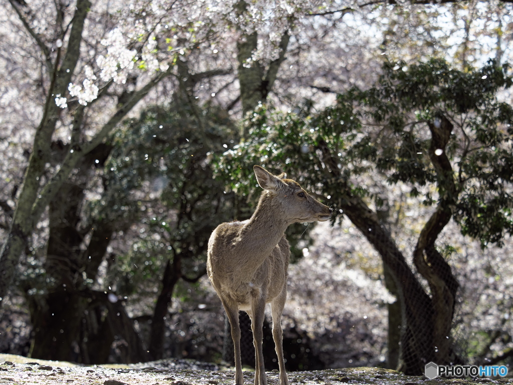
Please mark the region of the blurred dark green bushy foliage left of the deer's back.
[[198, 116], [182, 104], [149, 108], [115, 132], [103, 210], [113, 218], [129, 211], [140, 223], [131, 228], [135, 242], [110, 269], [121, 294], [141, 285], [151, 290], [168, 259], [180, 258], [187, 277], [204, 272], [208, 237], [232, 212], [210, 159], [235, 132], [222, 110], [206, 106]]

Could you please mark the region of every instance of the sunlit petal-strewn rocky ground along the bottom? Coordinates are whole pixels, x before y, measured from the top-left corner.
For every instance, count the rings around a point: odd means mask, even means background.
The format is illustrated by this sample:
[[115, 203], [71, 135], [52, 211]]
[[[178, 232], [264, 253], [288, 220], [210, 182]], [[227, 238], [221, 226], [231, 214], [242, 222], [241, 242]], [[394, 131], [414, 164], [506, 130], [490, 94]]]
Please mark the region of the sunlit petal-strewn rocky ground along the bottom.
[[[13, 385], [232, 385], [234, 372], [215, 364], [191, 360], [167, 359], [130, 365], [86, 367], [70, 362], [43, 361], [0, 354], [0, 384]], [[269, 385], [279, 385], [278, 372], [267, 374]], [[291, 385], [444, 385], [511, 384], [513, 378], [478, 378], [429, 380], [410, 377], [378, 368], [348, 368], [311, 372], [289, 372]], [[253, 373], [245, 372], [244, 382], [253, 383]]]

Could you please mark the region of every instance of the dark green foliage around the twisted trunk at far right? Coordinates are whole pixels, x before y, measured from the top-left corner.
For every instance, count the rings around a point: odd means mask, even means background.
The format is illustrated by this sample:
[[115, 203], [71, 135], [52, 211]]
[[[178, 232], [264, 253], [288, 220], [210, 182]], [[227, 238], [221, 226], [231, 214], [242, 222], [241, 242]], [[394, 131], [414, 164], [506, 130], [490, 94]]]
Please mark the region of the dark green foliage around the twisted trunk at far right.
[[411, 183], [415, 189], [436, 181], [426, 156], [430, 142], [425, 122], [436, 121], [438, 113], [449, 117], [454, 130], [446, 151], [460, 192], [455, 219], [463, 234], [479, 238], [483, 246], [501, 244], [513, 230], [513, 110], [497, 99], [499, 91], [512, 85], [508, 69], [493, 61], [470, 72], [439, 60], [407, 70], [403, 63], [386, 64], [378, 87], [358, 92], [356, 98], [367, 116], [388, 126], [377, 166], [391, 172], [390, 182]]

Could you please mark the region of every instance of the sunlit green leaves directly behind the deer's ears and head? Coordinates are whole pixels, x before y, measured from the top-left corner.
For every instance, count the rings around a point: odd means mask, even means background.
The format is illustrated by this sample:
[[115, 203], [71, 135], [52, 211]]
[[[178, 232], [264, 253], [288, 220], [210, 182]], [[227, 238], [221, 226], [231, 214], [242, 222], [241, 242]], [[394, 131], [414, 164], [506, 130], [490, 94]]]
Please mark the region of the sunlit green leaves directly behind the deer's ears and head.
[[[302, 172], [309, 161], [305, 149], [310, 148], [312, 143], [304, 136], [304, 124], [291, 119], [293, 115], [283, 114], [278, 111], [268, 111], [260, 107], [254, 111], [248, 122], [249, 136], [247, 142], [241, 142], [220, 156], [214, 158], [216, 176], [226, 183], [227, 190], [235, 192], [241, 201], [239, 214], [244, 220], [249, 218], [256, 206], [261, 192], [257, 180], [253, 174], [253, 165], [258, 164], [265, 167], [275, 175], [287, 172], [288, 176], [305, 184], [308, 175]], [[271, 125], [271, 122], [273, 125]], [[305, 139], [306, 141], [302, 141]], [[286, 144], [286, 148], [282, 147]], [[304, 157], [294, 159], [288, 152], [300, 153]], [[292, 164], [292, 162], [294, 162]], [[315, 178], [311, 178], [314, 180]], [[308, 183], [308, 182], [307, 182]], [[315, 181], [315, 185], [323, 183], [322, 180]], [[309, 184], [310, 187], [312, 186]], [[318, 192], [312, 189], [313, 192]], [[325, 200], [321, 196], [316, 198]], [[292, 224], [287, 228], [287, 240], [291, 248], [291, 262], [302, 257], [302, 249], [312, 243], [308, 236], [308, 230], [313, 225], [302, 223]]]

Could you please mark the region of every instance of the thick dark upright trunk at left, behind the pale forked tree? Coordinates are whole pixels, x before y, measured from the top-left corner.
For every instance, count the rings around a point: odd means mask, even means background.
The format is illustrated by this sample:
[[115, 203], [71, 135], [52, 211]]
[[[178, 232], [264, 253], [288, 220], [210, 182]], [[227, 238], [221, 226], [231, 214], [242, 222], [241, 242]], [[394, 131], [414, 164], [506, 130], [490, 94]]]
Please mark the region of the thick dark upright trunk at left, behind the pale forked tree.
[[82, 286], [77, 253], [82, 240], [76, 226], [78, 207], [84, 198], [83, 189], [64, 184], [50, 204], [50, 236], [44, 268], [51, 278], [48, 294], [29, 296], [33, 326], [30, 356], [72, 361], [80, 320], [87, 300], [76, 294]]

